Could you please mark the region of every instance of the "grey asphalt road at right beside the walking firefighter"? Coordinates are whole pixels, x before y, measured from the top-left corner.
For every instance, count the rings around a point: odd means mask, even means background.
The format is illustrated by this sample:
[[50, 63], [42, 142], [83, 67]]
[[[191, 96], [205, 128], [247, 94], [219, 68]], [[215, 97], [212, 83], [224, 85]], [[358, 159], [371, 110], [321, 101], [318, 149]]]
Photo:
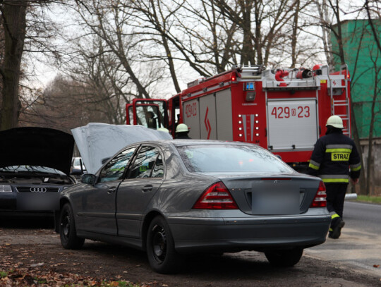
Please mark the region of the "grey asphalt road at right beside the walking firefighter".
[[381, 278], [381, 205], [345, 202], [344, 221], [339, 239], [327, 238], [305, 254]]

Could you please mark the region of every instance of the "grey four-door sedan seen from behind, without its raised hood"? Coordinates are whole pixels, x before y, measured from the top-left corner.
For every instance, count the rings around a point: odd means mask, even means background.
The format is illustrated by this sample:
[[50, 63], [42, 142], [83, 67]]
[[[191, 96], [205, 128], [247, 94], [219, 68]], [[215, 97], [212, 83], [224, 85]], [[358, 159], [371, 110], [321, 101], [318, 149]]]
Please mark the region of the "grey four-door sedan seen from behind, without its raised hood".
[[157, 140], [129, 145], [61, 193], [63, 248], [85, 239], [147, 252], [171, 273], [195, 252], [265, 252], [291, 267], [325, 242], [325, 185], [267, 150], [241, 142]]

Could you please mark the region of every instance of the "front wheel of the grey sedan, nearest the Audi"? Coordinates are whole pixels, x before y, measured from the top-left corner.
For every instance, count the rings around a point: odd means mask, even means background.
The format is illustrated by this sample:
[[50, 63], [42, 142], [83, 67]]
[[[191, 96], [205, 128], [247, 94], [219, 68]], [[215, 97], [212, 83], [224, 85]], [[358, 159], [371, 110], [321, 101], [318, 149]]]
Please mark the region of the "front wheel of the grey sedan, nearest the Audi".
[[59, 237], [61, 245], [65, 249], [80, 249], [85, 243], [84, 238], [77, 236], [73, 209], [68, 203], [63, 205], [59, 215]]

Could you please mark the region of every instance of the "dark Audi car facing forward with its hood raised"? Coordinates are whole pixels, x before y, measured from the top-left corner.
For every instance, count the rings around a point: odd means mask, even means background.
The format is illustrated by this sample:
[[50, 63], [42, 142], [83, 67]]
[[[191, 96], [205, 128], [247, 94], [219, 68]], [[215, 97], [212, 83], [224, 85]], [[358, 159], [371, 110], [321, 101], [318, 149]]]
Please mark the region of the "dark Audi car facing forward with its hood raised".
[[73, 135], [52, 128], [0, 132], [0, 216], [49, 215], [70, 176]]

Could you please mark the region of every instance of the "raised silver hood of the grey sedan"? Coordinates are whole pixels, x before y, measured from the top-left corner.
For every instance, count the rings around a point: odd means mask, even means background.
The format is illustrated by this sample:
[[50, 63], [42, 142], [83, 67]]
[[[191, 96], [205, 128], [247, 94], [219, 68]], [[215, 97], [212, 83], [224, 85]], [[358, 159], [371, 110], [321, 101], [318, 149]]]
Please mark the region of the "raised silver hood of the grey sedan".
[[96, 173], [102, 160], [112, 157], [120, 149], [145, 140], [171, 140], [171, 135], [144, 126], [88, 123], [71, 130], [88, 173]]

